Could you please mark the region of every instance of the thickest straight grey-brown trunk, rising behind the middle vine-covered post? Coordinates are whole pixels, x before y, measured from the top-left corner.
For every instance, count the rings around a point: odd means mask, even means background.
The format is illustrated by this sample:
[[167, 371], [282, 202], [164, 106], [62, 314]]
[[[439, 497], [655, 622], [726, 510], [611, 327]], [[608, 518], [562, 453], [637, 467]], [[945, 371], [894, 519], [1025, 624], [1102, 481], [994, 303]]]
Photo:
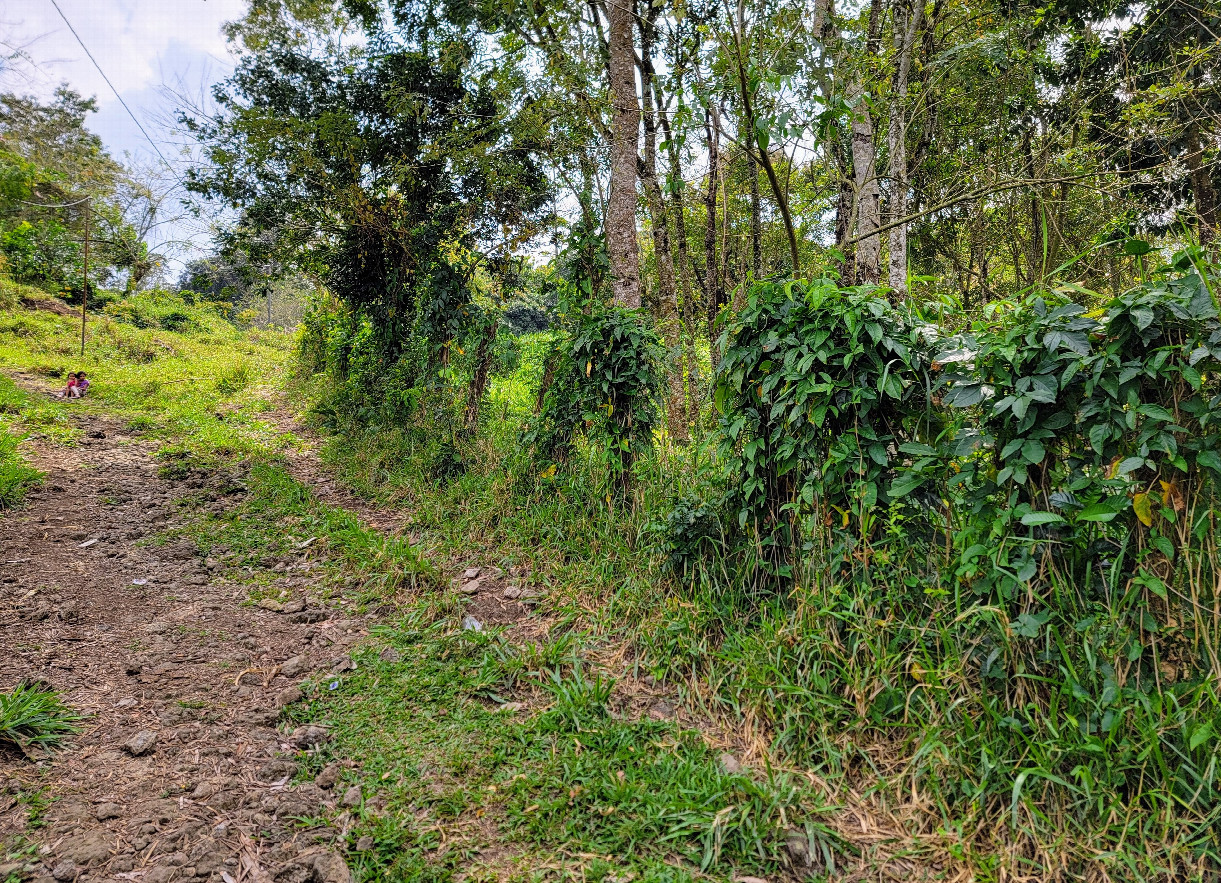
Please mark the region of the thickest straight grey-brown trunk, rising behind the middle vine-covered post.
[[610, 195], [606, 239], [614, 303], [640, 307], [640, 249], [636, 243], [636, 149], [640, 104], [636, 96], [635, 2], [609, 4], [607, 51], [612, 104]]

